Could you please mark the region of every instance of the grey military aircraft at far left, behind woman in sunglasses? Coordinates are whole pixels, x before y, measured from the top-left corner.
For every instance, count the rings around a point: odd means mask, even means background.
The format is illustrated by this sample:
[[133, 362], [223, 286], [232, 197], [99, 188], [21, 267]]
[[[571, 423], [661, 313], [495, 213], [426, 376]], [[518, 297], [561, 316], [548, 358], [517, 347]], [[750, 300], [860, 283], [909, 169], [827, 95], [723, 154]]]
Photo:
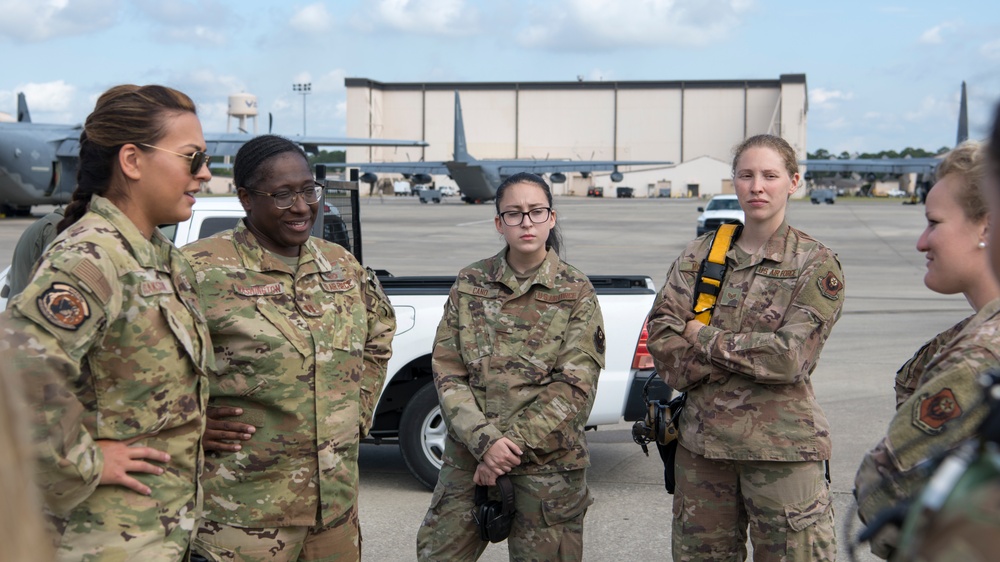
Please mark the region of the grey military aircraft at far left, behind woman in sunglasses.
[[[0, 122], [0, 213], [27, 215], [32, 205], [70, 200], [76, 187], [82, 130], [82, 125], [33, 123], [24, 94], [17, 95], [17, 121]], [[205, 142], [211, 156], [232, 156], [253, 137], [248, 133], [205, 133]], [[319, 146], [427, 146], [423, 141], [393, 139], [291, 139], [311, 153]]]

